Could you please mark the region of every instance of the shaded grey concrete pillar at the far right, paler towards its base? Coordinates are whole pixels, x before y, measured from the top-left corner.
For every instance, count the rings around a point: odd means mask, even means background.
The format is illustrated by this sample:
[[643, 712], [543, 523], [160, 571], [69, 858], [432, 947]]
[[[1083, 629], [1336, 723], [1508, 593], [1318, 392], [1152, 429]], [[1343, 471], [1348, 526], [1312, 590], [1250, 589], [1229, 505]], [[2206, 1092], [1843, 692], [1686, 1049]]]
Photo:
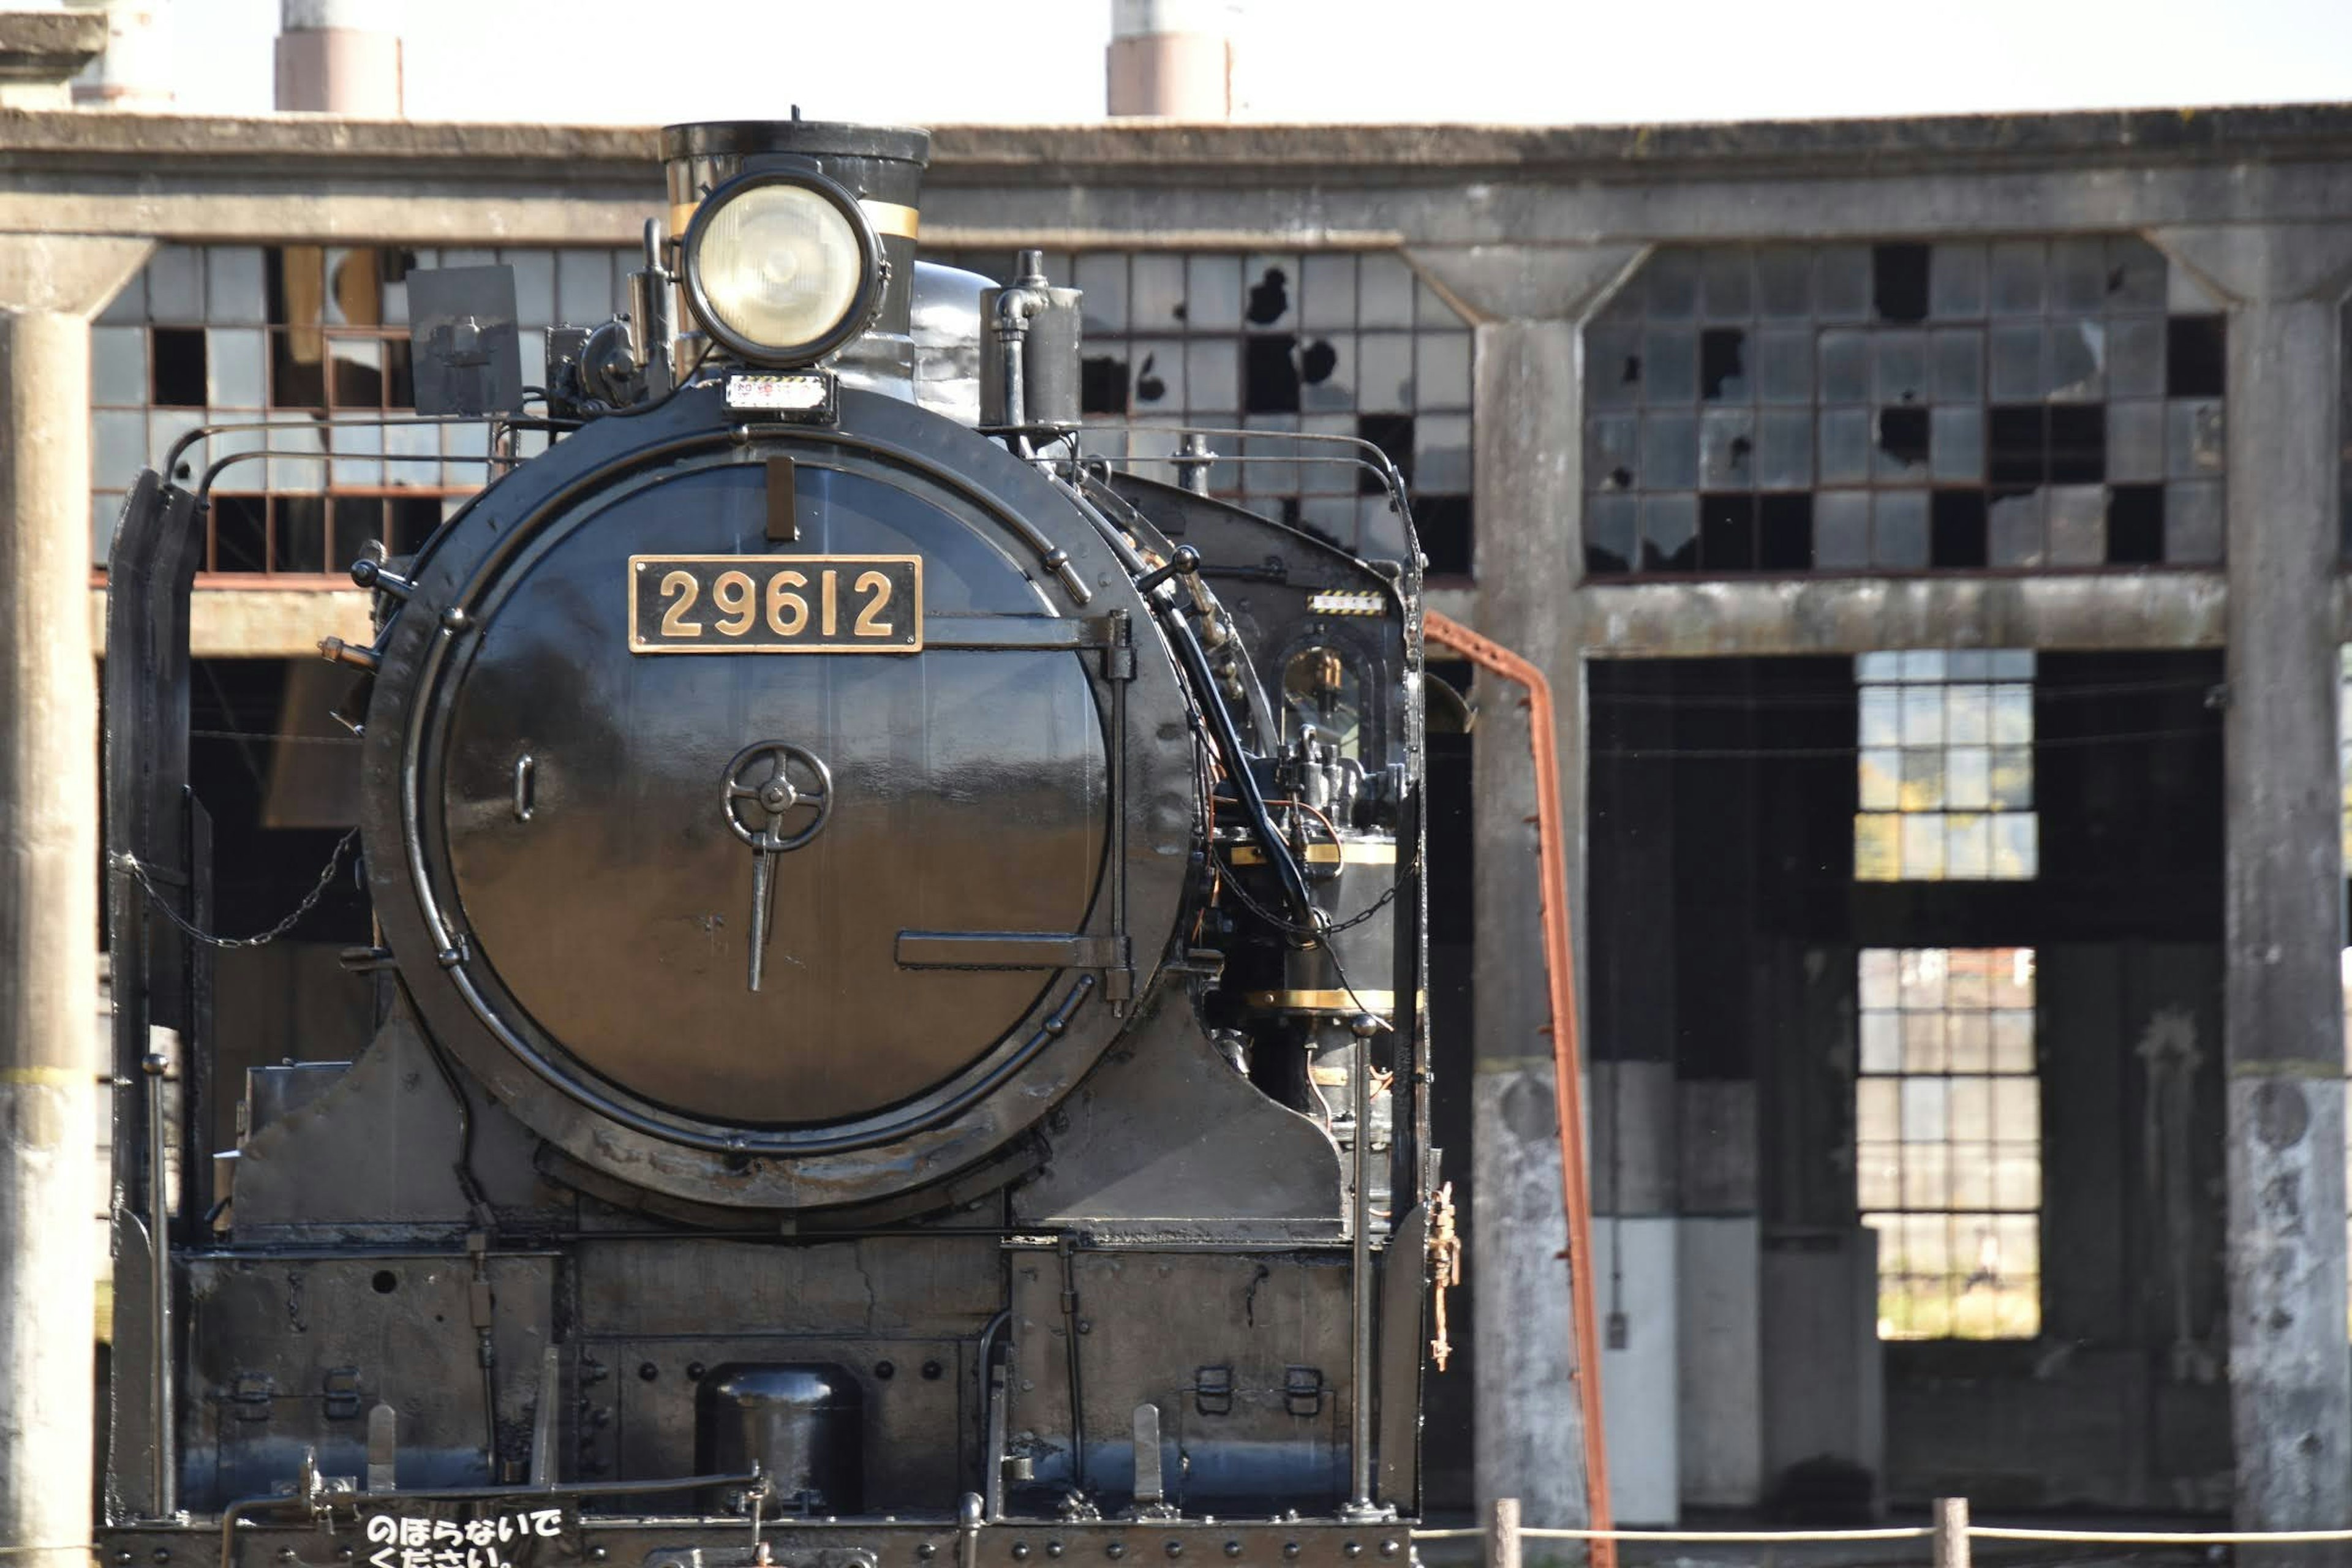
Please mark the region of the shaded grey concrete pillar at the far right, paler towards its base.
[[2230, 301], [2225, 1067], [2237, 1526], [2352, 1523], [2338, 296], [2352, 230], [2157, 235]]

